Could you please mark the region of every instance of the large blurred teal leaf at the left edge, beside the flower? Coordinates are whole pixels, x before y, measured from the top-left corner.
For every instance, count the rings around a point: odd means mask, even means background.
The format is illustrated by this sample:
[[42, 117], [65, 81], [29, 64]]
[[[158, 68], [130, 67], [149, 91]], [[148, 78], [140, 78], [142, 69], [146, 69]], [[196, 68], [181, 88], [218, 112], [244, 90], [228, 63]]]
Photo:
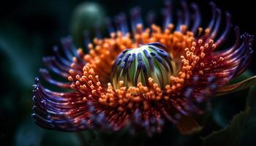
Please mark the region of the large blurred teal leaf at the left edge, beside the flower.
[[[10, 23], [0, 26], [0, 48], [1, 53], [7, 57], [7, 66], [4, 71], [12, 76], [12, 80], [17, 80], [23, 88], [30, 88], [33, 82], [42, 42], [38, 36], [28, 36], [26, 32]], [[15, 33], [10, 33], [15, 32]], [[25, 86], [25, 87], [24, 87]]]

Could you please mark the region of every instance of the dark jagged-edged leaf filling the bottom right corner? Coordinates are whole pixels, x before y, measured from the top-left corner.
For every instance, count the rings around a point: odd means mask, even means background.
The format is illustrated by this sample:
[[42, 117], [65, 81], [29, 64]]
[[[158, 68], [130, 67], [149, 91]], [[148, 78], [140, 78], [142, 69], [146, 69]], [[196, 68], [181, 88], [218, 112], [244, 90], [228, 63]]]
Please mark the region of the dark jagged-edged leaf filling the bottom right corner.
[[256, 145], [256, 87], [250, 89], [246, 110], [236, 115], [230, 125], [203, 138], [203, 144], [211, 145]]

